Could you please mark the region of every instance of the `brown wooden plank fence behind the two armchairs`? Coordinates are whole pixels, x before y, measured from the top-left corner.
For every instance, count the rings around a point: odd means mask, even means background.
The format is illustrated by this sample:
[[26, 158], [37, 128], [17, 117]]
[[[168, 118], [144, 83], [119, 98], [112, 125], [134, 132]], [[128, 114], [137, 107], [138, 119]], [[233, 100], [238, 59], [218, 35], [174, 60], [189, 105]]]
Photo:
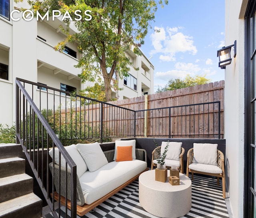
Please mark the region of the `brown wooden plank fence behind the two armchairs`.
[[110, 103], [136, 111], [137, 136], [224, 137], [223, 80], [148, 95], [146, 104], [145, 96]]

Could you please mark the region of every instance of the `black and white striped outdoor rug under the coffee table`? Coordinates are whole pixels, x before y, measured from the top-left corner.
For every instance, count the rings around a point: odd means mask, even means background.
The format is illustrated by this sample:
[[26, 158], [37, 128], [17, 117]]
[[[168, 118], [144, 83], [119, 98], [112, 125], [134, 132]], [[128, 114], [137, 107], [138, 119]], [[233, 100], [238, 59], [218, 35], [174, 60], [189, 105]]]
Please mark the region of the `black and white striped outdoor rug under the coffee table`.
[[[190, 177], [191, 178], [191, 177]], [[221, 180], [220, 180], [221, 184]], [[61, 217], [65, 217], [65, 208], [61, 207]], [[69, 214], [70, 215], [70, 214]], [[45, 216], [52, 218], [51, 214]], [[97, 206], [82, 218], [157, 218], [146, 212], [139, 203], [138, 180], [126, 186], [120, 192]], [[194, 176], [192, 181], [192, 208], [183, 217], [229, 217], [225, 200], [222, 198], [221, 186], [217, 179]], [[70, 216], [68, 216], [70, 218]], [[77, 216], [80, 218], [80, 216]]]

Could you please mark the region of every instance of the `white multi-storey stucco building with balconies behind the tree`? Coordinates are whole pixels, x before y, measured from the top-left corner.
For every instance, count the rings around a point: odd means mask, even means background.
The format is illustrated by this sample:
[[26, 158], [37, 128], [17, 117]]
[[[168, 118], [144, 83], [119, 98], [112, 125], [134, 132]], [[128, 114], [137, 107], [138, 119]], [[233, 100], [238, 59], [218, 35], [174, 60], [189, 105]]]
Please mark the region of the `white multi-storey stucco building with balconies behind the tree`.
[[[74, 67], [80, 58], [76, 43], [67, 44], [62, 53], [54, 50], [54, 46], [65, 38], [59, 28], [63, 25], [60, 19], [25, 21], [21, 18], [14, 21], [10, 18], [12, 8], [13, 1], [0, 0], [0, 123], [8, 125], [15, 122], [16, 77], [66, 91], [78, 91], [92, 85], [82, 84], [78, 77], [81, 71]], [[13, 17], [18, 19], [21, 13], [15, 12]], [[137, 56], [129, 51], [127, 55], [140, 70], [130, 67], [130, 77], [118, 81], [123, 89], [118, 93], [113, 91], [112, 96], [125, 99], [153, 93], [152, 63], [144, 54]]]

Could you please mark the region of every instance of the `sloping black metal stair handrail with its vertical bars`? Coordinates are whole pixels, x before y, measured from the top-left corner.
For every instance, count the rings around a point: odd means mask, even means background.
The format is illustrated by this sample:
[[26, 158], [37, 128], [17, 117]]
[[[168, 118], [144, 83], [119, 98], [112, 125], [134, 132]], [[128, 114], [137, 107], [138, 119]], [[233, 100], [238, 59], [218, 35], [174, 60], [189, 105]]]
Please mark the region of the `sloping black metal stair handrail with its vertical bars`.
[[[49, 137], [50, 139], [52, 139], [52, 145], [54, 147], [54, 145], [56, 145], [56, 147], [58, 148], [59, 151], [59, 156], [60, 154], [63, 155], [65, 161], [66, 161], [66, 170], [67, 170], [67, 166], [70, 166], [70, 170], [71, 170], [71, 217], [76, 217], [76, 164], [74, 163], [74, 161], [71, 159], [70, 155], [67, 153], [66, 149], [64, 149], [62, 143], [60, 142], [60, 140], [58, 139], [58, 137], [56, 136], [56, 134], [54, 133], [54, 131], [52, 130], [52, 128], [50, 127], [50, 125], [48, 124], [48, 122], [46, 121], [46, 119], [42, 116], [40, 110], [38, 109], [38, 107], [36, 107], [36, 104], [34, 103], [34, 101], [32, 100], [32, 98], [30, 97], [30, 95], [28, 94], [28, 92], [25, 90], [25, 88], [22, 86], [21, 80], [19, 80], [18, 78], [16, 79], [16, 143], [20, 143], [22, 145], [22, 148], [24, 150], [24, 153], [28, 159], [28, 162], [32, 168], [32, 171], [36, 177], [36, 180], [42, 190], [42, 193], [44, 195], [44, 198], [46, 200], [46, 202], [48, 203], [50, 209], [52, 210], [52, 214], [54, 215], [54, 217], [58, 217], [56, 211], [55, 211], [55, 207], [54, 207], [54, 199], [50, 200], [50, 196], [49, 196], [49, 173], [47, 174], [47, 185], [45, 187], [44, 182], [42, 181], [42, 172], [40, 172], [40, 168], [39, 166], [39, 135], [37, 135], [37, 150], [34, 147], [35, 145], [35, 115], [37, 116], [37, 122], [38, 122], [38, 128], [39, 128], [39, 121], [40, 121], [40, 125], [42, 125], [42, 135], [44, 135], [44, 129], [47, 133], [47, 141], [49, 142]], [[22, 105], [21, 105], [22, 104]], [[28, 112], [28, 105], [29, 105], [29, 111]], [[22, 107], [21, 107], [22, 106]], [[33, 125], [31, 127], [31, 125], [29, 125], [30, 129], [28, 129], [28, 116], [32, 116], [31, 113], [33, 113]], [[22, 116], [21, 116], [22, 115]], [[22, 120], [23, 118], [23, 120]], [[21, 126], [22, 123], [22, 126]], [[30, 119], [30, 124], [31, 124], [31, 119]], [[22, 128], [20, 128], [22, 127]], [[31, 129], [33, 128], [33, 133], [31, 134]], [[44, 129], [43, 129], [44, 128]], [[30, 134], [28, 134], [28, 132], [30, 132]], [[30, 147], [30, 143], [29, 143], [29, 151], [28, 151], [28, 147], [25, 146], [24, 144], [28, 144], [28, 141], [31, 142], [31, 137], [33, 137], [33, 149], [31, 149]], [[48, 143], [47, 142], [47, 143]], [[42, 145], [43, 145], [43, 140], [42, 140]], [[44, 147], [42, 146], [42, 150], [44, 151]], [[33, 153], [33, 155], [35, 155], [35, 152], [37, 152], [37, 161], [35, 161], [35, 156], [33, 156], [33, 158], [31, 158], [31, 154]], [[47, 144], [47, 166], [49, 164], [49, 145]], [[55, 149], [53, 152], [53, 159], [55, 157]], [[44, 160], [43, 160], [43, 152], [42, 152], [42, 160], [41, 160], [41, 164], [42, 166], [45, 164]], [[61, 156], [59, 158], [59, 163], [61, 161]], [[36, 163], [37, 162], [37, 163]], [[37, 164], [37, 167], [35, 166], [35, 164]], [[60, 164], [59, 164], [60, 166]], [[42, 170], [43, 171], [43, 170]], [[47, 170], [48, 171], [48, 170]], [[54, 174], [53, 174], [53, 179], [54, 181]], [[66, 181], [67, 183], [67, 181]], [[52, 189], [52, 193], [54, 192], [54, 186]], [[60, 191], [60, 190], [59, 190]], [[60, 208], [60, 199], [59, 199], [59, 208]]]

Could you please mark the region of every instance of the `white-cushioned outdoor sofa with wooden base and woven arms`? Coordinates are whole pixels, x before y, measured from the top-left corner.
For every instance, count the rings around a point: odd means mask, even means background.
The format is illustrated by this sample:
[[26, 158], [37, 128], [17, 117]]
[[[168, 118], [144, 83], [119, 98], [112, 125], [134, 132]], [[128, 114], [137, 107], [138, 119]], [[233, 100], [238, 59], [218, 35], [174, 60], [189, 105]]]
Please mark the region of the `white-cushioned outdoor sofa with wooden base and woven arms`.
[[[132, 160], [115, 161], [117, 145], [122, 147], [131, 144]], [[86, 150], [88, 147], [92, 150], [96, 149], [96, 151], [83, 151], [83, 149]], [[136, 149], [135, 140], [116, 141], [115, 150], [104, 152], [98, 143], [71, 145], [65, 148], [77, 165], [76, 203], [77, 215], [79, 216], [83, 216], [90, 210], [94, 209], [116, 192], [136, 180], [142, 172], [148, 170], [146, 150]], [[52, 151], [49, 153], [50, 156], [52, 156]], [[49, 167], [52, 173], [54, 169], [54, 185], [56, 190], [54, 192], [54, 198], [55, 200], [58, 200], [59, 167], [56, 164], [58, 163], [58, 157], [56, 157], [56, 154], [58, 154], [58, 152], [56, 152], [55, 149], [55, 163], [50, 163]], [[104, 157], [102, 155], [104, 155]], [[63, 163], [64, 166], [65, 164], [66, 163]], [[63, 205], [66, 204], [66, 198], [64, 198], [64, 196], [66, 196], [66, 168], [64, 166], [61, 164], [60, 168], [60, 183], [62, 190], [60, 193], [60, 202]], [[70, 169], [68, 168], [67, 171], [68, 187], [70, 187]], [[68, 190], [67, 196], [68, 208], [70, 209], [70, 190]]]

